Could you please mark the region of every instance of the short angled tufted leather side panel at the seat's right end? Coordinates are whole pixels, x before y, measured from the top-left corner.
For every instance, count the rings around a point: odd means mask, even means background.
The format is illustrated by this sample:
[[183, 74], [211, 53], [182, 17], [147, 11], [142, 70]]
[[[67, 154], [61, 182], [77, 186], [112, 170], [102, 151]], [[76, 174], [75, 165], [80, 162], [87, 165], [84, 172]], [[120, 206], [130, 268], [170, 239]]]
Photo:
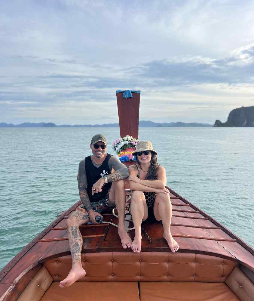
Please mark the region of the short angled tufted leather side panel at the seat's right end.
[[247, 276], [235, 267], [233, 272], [226, 280], [226, 284], [231, 290], [238, 296], [241, 301], [253, 301], [254, 300], [254, 285], [247, 278]]

